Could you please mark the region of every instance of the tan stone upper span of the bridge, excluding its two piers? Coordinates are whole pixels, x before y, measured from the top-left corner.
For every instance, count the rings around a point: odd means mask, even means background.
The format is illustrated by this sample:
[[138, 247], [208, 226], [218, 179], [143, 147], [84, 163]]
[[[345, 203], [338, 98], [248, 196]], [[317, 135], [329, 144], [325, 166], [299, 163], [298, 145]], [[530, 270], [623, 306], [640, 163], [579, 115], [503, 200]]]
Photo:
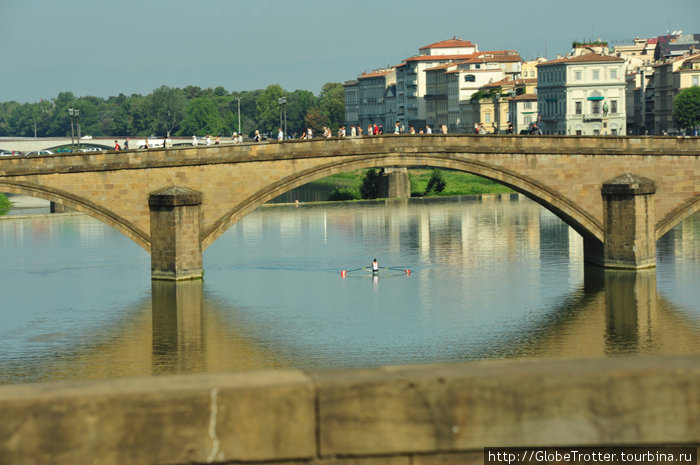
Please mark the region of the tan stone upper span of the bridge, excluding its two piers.
[[[307, 182], [369, 167], [466, 171], [536, 198], [603, 244], [601, 188], [624, 173], [654, 181], [654, 238], [700, 210], [700, 140], [655, 137], [421, 135], [0, 160], [3, 191], [88, 213], [150, 250], [148, 196], [168, 186], [202, 193], [202, 249], [264, 202]], [[591, 246], [589, 251], [595, 249]], [[596, 251], [597, 253], [597, 251]], [[590, 254], [587, 254], [590, 255]]]

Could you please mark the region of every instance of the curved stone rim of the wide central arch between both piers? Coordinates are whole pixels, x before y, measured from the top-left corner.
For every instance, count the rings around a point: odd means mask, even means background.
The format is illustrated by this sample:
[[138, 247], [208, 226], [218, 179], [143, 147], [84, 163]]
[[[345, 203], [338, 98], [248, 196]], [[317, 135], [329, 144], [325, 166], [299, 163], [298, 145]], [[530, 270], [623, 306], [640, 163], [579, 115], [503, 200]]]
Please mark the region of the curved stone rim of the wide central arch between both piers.
[[321, 179], [332, 174], [354, 171], [365, 168], [381, 168], [387, 166], [413, 167], [431, 166], [446, 168], [475, 174], [510, 187], [547, 210], [551, 211], [567, 225], [571, 226], [583, 238], [584, 242], [599, 245], [602, 248], [604, 240], [603, 225], [590, 213], [580, 208], [576, 203], [563, 195], [548, 188], [542, 183], [523, 176], [514, 171], [499, 166], [490, 165], [466, 158], [458, 158], [455, 153], [424, 153], [407, 156], [405, 153], [397, 157], [396, 153], [370, 154], [355, 158], [351, 161], [329, 162], [314, 168], [302, 170], [266, 186], [255, 194], [244, 199], [226, 214], [216, 220], [207, 230], [202, 232], [202, 250], [206, 250], [226, 230], [241, 218], [251, 213], [260, 205], [288, 192], [295, 187]]

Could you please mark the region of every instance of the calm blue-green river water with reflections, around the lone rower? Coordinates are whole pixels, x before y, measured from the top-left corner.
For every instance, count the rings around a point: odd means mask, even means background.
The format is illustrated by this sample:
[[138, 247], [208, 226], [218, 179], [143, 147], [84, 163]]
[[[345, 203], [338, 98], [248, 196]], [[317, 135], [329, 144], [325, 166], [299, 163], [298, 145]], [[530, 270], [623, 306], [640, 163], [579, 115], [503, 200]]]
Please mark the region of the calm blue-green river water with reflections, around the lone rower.
[[[0, 383], [697, 353], [700, 214], [657, 253], [584, 266], [581, 238], [518, 195], [302, 203], [234, 225], [203, 281], [152, 283], [148, 254], [90, 217], [5, 218]], [[378, 275], [341, 276], [373, 258]]]

